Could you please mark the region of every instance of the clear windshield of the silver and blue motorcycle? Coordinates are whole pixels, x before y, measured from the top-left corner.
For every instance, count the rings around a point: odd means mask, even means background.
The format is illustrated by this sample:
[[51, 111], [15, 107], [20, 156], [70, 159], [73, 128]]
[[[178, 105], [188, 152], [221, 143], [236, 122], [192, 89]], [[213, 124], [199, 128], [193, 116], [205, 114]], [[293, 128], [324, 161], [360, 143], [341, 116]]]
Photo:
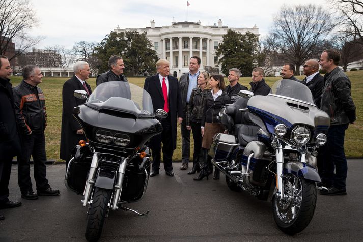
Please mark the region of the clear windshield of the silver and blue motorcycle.
[[296, 101], [315, 105], [313, 95], [310, 89], [299, 81], [282, 79], [276, 81], [271, 87], [269, 95], [286, 97]]

